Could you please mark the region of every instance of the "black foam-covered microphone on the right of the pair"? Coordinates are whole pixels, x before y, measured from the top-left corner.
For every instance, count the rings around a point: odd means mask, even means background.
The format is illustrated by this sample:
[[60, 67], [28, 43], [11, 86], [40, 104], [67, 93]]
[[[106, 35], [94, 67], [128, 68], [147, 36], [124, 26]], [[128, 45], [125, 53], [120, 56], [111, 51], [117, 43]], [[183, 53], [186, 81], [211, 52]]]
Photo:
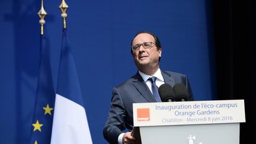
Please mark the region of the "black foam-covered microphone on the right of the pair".
[[175, 84], [173, 91], [176, 95], [176, 101], [187, 101], [188, 100], [188, 91], [183, 83]]

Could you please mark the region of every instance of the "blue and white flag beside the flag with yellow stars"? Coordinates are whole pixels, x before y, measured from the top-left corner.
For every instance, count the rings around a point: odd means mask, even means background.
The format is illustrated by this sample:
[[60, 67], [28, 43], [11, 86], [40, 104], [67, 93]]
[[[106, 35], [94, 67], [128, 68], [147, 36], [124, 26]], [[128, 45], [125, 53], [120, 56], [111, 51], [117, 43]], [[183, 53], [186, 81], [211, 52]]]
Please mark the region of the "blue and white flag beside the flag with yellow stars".
[[51, 143], [92, 143], [75, 62], [65, 28], [62, 35]]

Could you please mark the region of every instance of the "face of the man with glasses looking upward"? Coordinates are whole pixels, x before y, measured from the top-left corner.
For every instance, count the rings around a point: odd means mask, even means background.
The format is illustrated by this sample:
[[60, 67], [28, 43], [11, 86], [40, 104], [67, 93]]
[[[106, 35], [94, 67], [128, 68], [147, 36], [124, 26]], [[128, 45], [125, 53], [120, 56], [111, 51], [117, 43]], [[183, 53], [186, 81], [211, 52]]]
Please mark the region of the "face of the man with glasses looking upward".
[[133, 39], [133, 45], [142, 44], [145, 42], [152, 42], [152, 47], [149, 49], [145, 49], [142, 45], [139, 50], [133, 51], [133, 58], [137, 68], [143, 68], [144, 66], [158, 66], [159, 65], [159, 57], [161, 57], [162, 49], [159, 48], [157, 50], [155, 43], [155, 39], [151, 34], [141, 33]]

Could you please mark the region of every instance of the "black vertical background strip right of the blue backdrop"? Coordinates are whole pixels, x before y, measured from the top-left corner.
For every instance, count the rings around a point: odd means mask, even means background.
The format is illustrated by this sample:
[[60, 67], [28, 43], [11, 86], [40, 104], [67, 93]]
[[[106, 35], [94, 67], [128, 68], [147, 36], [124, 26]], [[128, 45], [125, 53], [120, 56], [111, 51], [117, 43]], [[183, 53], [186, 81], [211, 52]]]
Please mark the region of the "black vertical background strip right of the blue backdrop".
[[240, 143], [253, 142], [255, 132], [255, 1], [213, 1], [217, 97], [244, 99], [246, 123]]

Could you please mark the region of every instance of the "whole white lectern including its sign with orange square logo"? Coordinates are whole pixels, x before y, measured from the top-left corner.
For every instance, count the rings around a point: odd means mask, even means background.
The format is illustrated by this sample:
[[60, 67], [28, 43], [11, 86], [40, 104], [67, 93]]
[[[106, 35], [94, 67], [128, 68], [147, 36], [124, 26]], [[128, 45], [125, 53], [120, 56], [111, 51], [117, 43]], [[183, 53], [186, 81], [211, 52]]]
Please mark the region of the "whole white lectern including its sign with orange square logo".
[[239, 144], [244, 100], [133, 104], [142, 144]]

